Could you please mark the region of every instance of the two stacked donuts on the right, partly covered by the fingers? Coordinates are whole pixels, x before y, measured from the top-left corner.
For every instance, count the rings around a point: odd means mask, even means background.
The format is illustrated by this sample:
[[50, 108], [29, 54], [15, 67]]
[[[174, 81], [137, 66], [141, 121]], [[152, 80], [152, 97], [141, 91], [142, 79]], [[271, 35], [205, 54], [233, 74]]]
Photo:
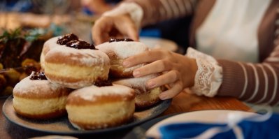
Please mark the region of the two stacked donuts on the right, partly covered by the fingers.
[[124, 59], [148, 51], [148, 46], [131, 39], [110, 39], [109, 42], [97, 45], [96, 48], [108, 54], [110, 58], [110, 77], [115, 78], [113, 83], [130, 87], [136, 92], [136, 109], [149, 108], [159, 101], [159, 94], [163, 92], [164, 87], [156, 87], [154, 89], [145, 87], [145, 82], [157, 77], [157, 75], [153, 74], [134, 78], [134, 69], [143, 66], [143, 64], [131, 68], [124, 68], [122, 66]]

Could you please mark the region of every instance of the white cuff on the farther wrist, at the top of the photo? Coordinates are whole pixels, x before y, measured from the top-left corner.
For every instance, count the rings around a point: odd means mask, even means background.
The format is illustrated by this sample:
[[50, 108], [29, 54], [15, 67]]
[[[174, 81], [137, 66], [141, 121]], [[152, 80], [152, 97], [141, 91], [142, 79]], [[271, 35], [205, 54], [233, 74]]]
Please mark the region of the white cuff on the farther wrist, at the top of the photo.
[[141, 20], [143, 19], [143, 8], [138, 6], [137, 3], [121, 3], [120, 6], [117, 6], [113, 10], [109, 10], [103, 13], [103, 16], [117, 16], [129, 14], [131, 19], [136, 24], [137, 29], [141, 27]]

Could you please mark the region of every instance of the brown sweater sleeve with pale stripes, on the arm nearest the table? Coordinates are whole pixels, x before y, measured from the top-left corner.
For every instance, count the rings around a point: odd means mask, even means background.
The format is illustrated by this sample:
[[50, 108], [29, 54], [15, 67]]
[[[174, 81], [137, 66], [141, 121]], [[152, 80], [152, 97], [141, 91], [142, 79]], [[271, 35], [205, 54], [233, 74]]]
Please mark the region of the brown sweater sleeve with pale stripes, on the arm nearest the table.
[[[274, 42], [279, 42], [279, 36]], [[259, 64], [217, 60], [223, 68], [218, 95], [235, 96], [250, 103], [279, 105], [279, 43], [275, 45], [269, 57]]]

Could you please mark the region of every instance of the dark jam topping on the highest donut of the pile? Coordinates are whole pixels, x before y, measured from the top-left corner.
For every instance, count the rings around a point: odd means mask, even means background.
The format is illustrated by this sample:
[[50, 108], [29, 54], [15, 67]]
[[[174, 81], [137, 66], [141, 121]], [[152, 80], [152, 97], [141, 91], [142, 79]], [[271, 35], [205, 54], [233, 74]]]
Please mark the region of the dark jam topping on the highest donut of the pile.
[[75, 34], [66, 34], [61, 38], [58, 38], [57, 44], [66, 45], [67, 47], [73, 47], [75, 49], [96, 49], [93, 44], [78, 40], [78, 36]]

